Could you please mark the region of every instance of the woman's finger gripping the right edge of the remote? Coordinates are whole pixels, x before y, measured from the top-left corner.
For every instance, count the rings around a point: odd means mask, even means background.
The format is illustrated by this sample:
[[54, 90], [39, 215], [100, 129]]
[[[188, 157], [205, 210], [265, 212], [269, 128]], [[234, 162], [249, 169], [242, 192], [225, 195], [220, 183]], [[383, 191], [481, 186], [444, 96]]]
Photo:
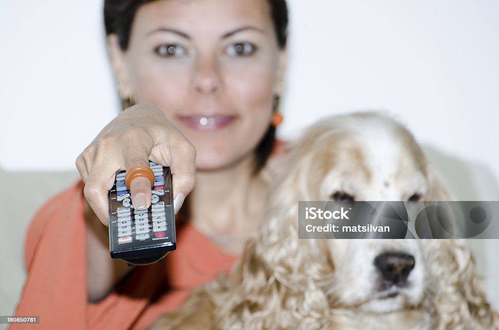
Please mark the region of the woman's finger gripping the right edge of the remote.
[[173, 185], [173, 206], [175, 214], [180, 210], [186, 196], [196, 183], [196, 149], [186, 140], [185, 143], [174, 144], [170, 147]]

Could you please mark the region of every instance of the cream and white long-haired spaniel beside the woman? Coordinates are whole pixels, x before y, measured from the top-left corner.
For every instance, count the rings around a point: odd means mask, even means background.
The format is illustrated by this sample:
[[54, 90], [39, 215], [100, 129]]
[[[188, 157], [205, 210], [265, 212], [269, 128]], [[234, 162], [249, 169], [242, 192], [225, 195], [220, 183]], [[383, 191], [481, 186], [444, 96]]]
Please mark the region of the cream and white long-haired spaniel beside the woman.
[[311, 126], [231, 275], [158, 329], [499, 329], [457, 239], [298, 239], [299, 200], [450, 200], [413, 136], [378, 113]]

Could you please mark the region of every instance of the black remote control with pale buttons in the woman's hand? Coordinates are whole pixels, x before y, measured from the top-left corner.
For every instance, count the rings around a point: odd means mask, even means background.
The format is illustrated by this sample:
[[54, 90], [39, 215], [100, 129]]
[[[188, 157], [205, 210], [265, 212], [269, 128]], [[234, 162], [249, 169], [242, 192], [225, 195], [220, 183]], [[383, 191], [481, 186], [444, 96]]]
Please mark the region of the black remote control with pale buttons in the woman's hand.
[[111, 258], [123, 259], [129, 265], [147, 265], [176, 249], [170, 167], [149, 162], [154, 171], [151, 206], [135, 210], [125, 171], [116, 173], [109, 190], [109, 252]]

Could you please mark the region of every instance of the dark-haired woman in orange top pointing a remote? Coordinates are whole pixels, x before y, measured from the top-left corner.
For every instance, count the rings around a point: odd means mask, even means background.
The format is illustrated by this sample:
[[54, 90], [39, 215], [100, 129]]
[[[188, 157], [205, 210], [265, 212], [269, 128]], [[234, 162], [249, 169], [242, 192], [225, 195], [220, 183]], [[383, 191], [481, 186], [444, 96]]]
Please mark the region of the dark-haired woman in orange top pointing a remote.
[[[105, 24], [120, 96], [137, 104], [76, 160], [84, 188], [54, 197], [30, 225], [16, 313], [39, 315], [47, 329], [148, 326], [229, 271], [264, 215], [260, 174], [280, 122], [285, 1], [106, 0]], [[188, 221], [165, 263], [129, 268], [109, 256], [107, 191], [117, 170], [148, 160], [171, 167], [176, 212], [189, 194], [178, 216]], [[130, 188], [134, 205], [147, 208], [148, 180]], [[210, 240], [220, 236], [234, 243]]]

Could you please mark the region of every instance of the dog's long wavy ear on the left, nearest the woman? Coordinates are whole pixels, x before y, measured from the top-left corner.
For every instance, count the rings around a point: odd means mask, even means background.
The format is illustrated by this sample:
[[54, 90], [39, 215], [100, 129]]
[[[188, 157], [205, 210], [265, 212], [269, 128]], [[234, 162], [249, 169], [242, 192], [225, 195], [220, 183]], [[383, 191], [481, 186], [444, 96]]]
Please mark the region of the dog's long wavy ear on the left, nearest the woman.
[[217, 327], [300, 329], [313, 324], [327, 328], [330, 255], [323, 241], [298, 239], [298, 201], [308, 200], [309, 192], [317, 190], [313, 182], [321, 178], [313, 169], [317, 162], [308, 144], [315, 140], [301, 141], [287, 159], [286, 175], [270, 193], [266, 219], [256, 238], [247, 242], [231, 276], [232, 295], [217, 302], [222, 306]]

